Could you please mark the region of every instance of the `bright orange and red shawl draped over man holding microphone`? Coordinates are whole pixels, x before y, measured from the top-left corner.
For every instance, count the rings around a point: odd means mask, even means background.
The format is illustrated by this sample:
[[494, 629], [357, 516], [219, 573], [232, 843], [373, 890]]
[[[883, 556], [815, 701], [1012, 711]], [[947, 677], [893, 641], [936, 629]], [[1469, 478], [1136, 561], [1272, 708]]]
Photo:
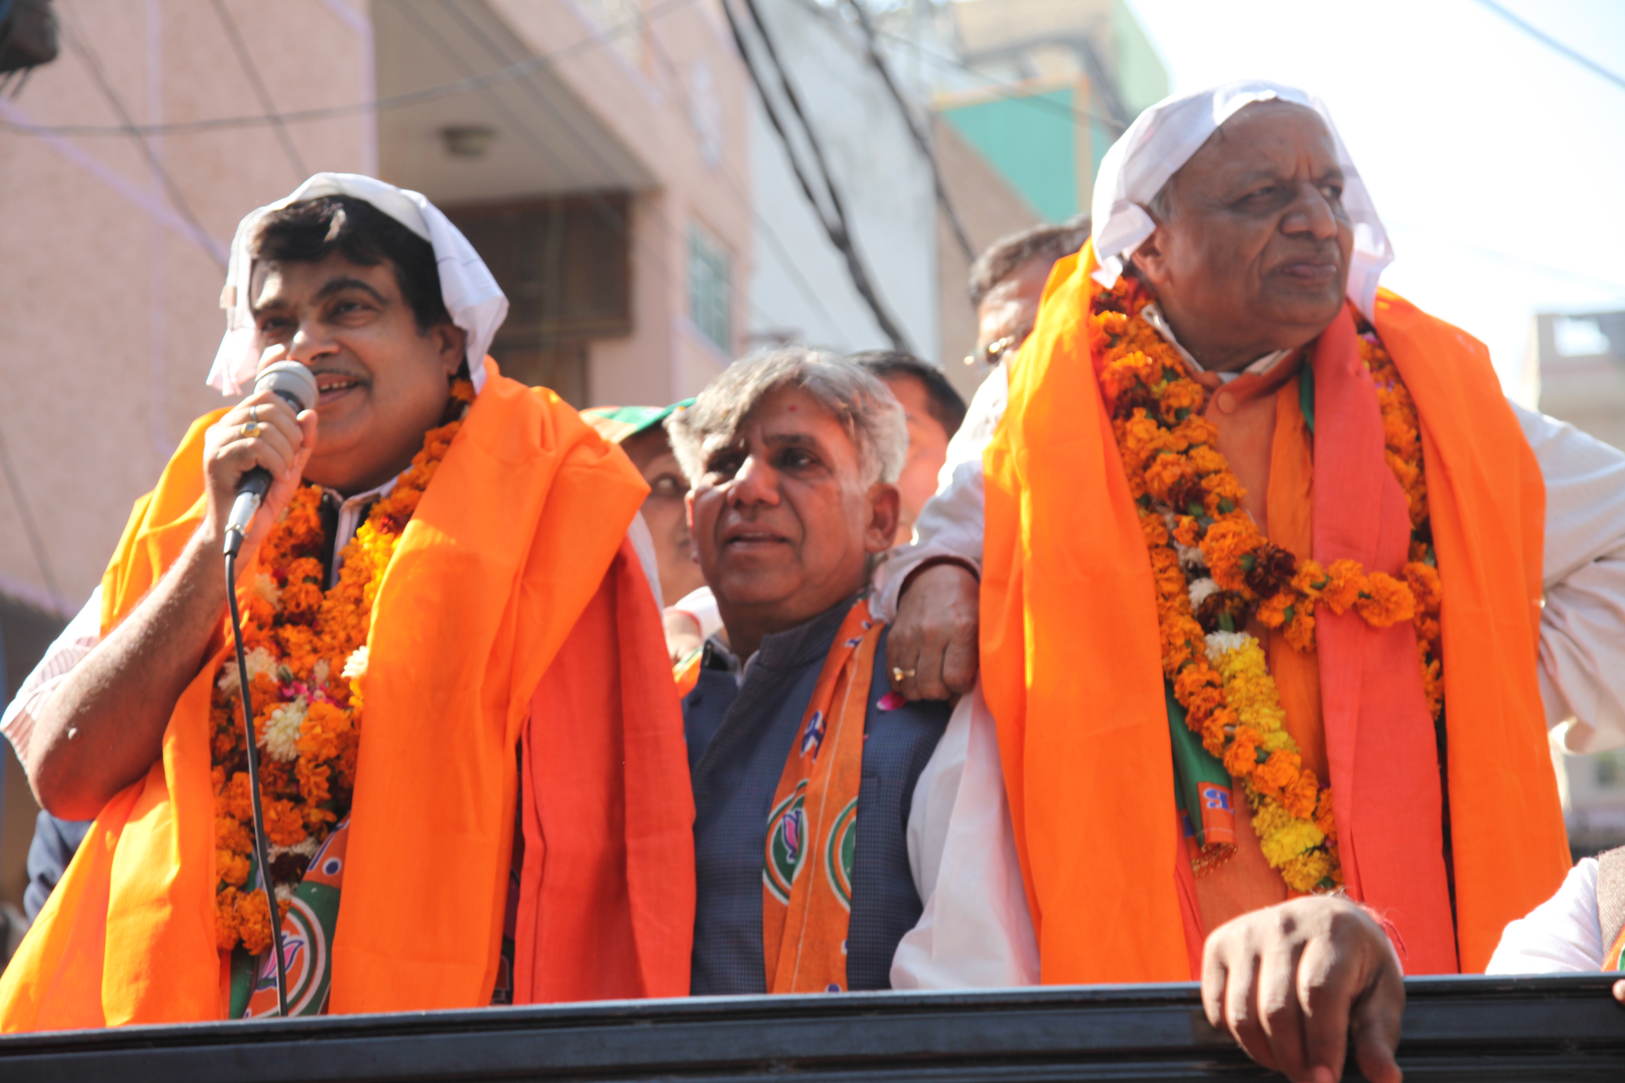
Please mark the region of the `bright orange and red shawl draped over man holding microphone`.
[[[626, 544], [647, 487], [557, 396], [486, 365], [372, 609], [335, 1013], [489, 1002], [522, 731], [518, 999], [689, 987], [682, 726], [658, 612]], [[104, 632], [202, 520], [203, 432], [218, 416], [193, 422], [136, 502], [102, 583]], [[216, 640], [180, 695], [162, 758], [98, 817], [0, 977], [0, 1029], [224, 1015], [208, 706], [226, 645]], [[604, 943], [618, 953], [606, 958]]]

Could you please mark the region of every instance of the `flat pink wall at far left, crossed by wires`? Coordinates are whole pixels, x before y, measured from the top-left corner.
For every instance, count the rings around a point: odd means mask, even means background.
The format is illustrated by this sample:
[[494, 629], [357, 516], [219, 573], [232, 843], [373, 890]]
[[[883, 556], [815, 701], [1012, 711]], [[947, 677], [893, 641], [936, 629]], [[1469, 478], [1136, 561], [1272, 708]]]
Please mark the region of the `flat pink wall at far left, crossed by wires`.
[[[257, 115], [213, 5], [60, 0], [65, 41], [0, 120], [117, 125], [101, 63], [135, 123]], [[280, 110], [366, 97], [366, 23], [341, 0], [228, 0]], [[362, 32], [358, 32], [358, 28]], [[83, 47], [72, 42], [78, 39]], [[370, 120], [289, 127], [315, 169], [362, 169]], [[167, 135], [150, 146], [202, 235], [179, 214], [135, 138], [0, 132], [0, 434], [32, 508], [57, 589], [78, 606], [101, 578], [130, 503], [187, 424], [219, 404], [203, 386], [223, 317], [221, 258], [244, 211], [297, 172], [268, 127]], [[0, 494], [0, 589], [46, 599], [10, 487]]]

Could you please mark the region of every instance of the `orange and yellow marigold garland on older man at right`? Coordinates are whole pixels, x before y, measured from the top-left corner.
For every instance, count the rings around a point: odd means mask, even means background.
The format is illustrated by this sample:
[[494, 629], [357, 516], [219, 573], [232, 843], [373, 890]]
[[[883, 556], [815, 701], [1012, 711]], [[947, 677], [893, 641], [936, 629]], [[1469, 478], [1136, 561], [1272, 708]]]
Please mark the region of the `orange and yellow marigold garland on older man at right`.
[[[1090, 305], [1090, 354], [1112, 411], [1129, 489], [1139, 505], [1157, 591], [1164, 675], [1202, 747], [1242, 779], [1253, 830], [1271, 867], [1295, 891], [1342, 882], [1331, 791], [1303, 766], [1259, 641], [1258, 619], [1298, 651], [1315, 648], [1315, 611], [1355, 612], [1373, 627], [1417, 630], [1428, 710], [1443, 710], [1441, 591], [1428, 537], [1427, 487], [1415, 404], [1376, 334], [1360, 328], [1360, 359], [1378, 388], [1386, 458], [1410, 507], [1404, 578], [1355, 560], [1302, 563], [1274, 546], [1242, 508], [1245, 490], [1201, 416], [1206, 390], [1173, 347], [1139, 318], [1150, 297], [1131, 278]], [[1211, 851], [1211, 852], [1209, 852]], [[1222, 864], [1207, 848], [1196, 865]]]

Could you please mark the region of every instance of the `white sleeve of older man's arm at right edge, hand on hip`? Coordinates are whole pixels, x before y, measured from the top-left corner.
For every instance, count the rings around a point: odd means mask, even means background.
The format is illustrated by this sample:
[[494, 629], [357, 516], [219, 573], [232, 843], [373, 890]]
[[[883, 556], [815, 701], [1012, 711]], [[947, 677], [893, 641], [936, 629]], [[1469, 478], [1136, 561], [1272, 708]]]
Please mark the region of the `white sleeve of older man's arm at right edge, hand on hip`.
[[1625, 745], [1625, 453], [1513, 406], [1545, 481], [1540, 698], [1568, 752]]

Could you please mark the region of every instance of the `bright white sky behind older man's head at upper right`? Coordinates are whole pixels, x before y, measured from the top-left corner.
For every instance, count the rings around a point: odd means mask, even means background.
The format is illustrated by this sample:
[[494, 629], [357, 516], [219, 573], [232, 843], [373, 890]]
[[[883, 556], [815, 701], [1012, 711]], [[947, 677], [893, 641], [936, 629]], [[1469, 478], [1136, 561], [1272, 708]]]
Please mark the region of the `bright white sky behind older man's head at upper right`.
[[[1477, 0], [1129, 0], [1173, 93], [1320, 94], [1398, 252], [1383, 284], [1488, 343], [1513, 390], [1536, 312], [1625, 309], [1625, 88]], [[1625, 78], [1620, 0], [1498, 0]]]

